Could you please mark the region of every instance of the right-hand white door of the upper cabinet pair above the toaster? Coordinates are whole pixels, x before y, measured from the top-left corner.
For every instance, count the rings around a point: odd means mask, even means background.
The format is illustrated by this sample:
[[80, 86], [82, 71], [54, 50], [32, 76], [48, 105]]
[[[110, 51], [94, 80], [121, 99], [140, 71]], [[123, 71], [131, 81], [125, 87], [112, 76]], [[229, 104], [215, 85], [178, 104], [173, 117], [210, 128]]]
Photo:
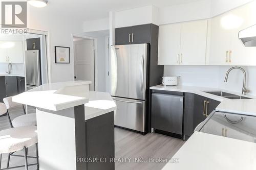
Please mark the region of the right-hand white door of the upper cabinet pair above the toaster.
[[180, 64], [205, 65], [207, 20], [181, 24]]

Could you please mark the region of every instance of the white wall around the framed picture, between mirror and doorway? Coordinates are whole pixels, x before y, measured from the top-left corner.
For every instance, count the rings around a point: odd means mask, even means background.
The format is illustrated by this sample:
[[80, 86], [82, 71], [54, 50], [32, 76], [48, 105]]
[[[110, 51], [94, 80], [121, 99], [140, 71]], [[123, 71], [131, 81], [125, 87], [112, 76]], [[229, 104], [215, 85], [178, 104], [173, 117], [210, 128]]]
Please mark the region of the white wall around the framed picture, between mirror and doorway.
[[[71, 47], [71, 34], [82, 34], [82, 22], [76, 17], [55, 13], [54, 5], [51, 2], [44, 8], [28, 6], [28, 28], [49, 31], [50, 34], [50, 57], [52, 82], [73, 80], [73, 58], [70, 64], [56, 64], [54, 58], [54, 46]], [[55, 6], [56, 7], [56, 6]], [[68, 10], [67, 10], [68, 13]]]

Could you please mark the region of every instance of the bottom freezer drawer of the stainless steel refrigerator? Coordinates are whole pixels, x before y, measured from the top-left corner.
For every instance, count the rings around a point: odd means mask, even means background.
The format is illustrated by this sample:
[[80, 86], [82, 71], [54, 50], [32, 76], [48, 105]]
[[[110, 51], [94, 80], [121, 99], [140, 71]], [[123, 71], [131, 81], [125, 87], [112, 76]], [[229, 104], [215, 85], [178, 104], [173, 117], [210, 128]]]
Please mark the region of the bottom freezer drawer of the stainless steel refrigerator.
[[117, 105], [115, 125], [145, 132], [145, 101], [113, 97]]

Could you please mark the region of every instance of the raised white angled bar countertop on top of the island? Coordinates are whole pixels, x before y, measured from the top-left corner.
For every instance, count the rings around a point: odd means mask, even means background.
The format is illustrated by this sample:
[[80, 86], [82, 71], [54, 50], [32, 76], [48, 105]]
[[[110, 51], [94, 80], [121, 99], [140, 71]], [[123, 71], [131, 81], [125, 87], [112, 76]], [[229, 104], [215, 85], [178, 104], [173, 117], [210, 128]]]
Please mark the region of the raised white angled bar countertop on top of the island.
[[13, 102], [48, 110], [62, 110], [89, 102], [90, 81], [50, 83], [15, 95]]

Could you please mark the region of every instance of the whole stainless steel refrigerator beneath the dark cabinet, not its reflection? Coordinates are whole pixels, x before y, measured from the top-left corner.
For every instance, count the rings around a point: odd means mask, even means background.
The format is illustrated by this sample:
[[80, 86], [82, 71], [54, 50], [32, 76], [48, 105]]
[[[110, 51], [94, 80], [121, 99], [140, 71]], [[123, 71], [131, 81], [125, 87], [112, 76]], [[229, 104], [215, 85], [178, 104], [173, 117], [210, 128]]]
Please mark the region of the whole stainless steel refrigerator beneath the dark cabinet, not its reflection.
[[115, 126], [145, 132], [148, 44], [111, 46]]

